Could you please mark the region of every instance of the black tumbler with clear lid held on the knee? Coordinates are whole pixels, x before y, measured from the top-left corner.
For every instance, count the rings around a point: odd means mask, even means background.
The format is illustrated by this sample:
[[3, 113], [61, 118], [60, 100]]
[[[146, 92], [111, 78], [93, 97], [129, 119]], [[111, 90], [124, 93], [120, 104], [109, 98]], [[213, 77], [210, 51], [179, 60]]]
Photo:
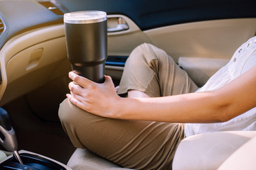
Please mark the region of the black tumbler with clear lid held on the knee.
[[68, 60], [75, 73], [97, 83], [105, 81], [107, 14], [78, 11], [64, 14]]

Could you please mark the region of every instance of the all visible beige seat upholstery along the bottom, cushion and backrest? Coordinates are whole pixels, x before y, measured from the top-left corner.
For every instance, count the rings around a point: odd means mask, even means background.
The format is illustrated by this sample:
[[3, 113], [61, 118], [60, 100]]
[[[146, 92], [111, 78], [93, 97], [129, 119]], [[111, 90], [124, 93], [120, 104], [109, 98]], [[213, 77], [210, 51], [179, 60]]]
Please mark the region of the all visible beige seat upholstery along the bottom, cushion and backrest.
[[[187, 137], [178, 146], [173, 170], [210, 170], [218, 169], [221, 164], [218, 170], [256, 169], [255, 146], [256, 131], [213, 132]], [[76, 149], [68, 166], [73, 170], [124, 169], [87, 149]]]

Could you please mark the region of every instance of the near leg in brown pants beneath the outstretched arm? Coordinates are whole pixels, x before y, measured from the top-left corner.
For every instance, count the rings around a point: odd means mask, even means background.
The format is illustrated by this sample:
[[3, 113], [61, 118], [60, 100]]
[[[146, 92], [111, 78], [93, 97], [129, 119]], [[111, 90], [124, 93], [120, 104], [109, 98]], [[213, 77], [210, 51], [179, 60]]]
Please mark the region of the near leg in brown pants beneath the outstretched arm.
[[75, 147], [133, 169], [171, 169], [184, 137], [183, 124], [102, 118], [68, 100], [60, 104], [59, 117]]

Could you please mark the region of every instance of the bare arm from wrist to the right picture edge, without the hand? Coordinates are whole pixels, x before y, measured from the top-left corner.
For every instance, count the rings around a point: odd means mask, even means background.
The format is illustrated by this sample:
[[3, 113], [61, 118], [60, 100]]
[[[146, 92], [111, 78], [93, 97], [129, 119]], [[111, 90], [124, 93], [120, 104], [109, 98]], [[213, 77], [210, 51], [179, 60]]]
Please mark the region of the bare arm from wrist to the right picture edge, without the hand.
[[225, 122], [256, 106], [256, 67], [215, 91], [126, 98], [117, 118], [175, 123]]

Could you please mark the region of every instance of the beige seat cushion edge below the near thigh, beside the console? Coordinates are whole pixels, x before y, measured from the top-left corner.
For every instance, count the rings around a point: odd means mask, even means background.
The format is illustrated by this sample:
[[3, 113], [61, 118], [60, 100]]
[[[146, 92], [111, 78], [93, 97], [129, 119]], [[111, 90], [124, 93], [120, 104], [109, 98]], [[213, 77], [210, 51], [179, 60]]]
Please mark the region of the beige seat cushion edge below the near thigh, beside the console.
[[72, 157], [70, 157], [68, 166], [73, 170], [125, 170], [125, 168], [107, 161], [87, 149], [80, 148], [76, 149]]

